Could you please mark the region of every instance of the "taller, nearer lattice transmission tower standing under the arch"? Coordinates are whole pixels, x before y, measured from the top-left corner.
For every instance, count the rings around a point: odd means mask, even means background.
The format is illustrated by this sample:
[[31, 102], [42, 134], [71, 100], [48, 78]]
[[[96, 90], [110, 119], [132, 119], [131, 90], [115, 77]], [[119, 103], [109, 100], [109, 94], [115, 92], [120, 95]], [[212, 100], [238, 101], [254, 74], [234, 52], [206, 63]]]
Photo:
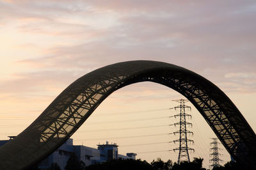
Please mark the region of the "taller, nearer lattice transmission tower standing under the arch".
[[173, 141], [173, 143], [179, 142], [180, 146], [179, 148], [175, 148], [173, 149], [173, 151], [178, 151], [179, 150], [179, 157], [178, 157], [178, 164], [180, 164], [180, 162], [182, 161], [188, 161], [190, 162], [189, 159], [189, 154], [188, 151], [195, 151], [192, 148], [188, 148], [188, 143], [194, 143], [193, 140], [188, 139], [187, 135], [188, 134], [192, 134], [193, 132], [187, 130], [187, 126], [192, 126], [192, 123], [189, 123], [188, 121], [186, 121], [186, 117], [191, 118], [191, 114], [186, 114], [185, 110], [186, 109], [190, 109], [191, 107], [189, 107], [188, 105], [185, 105], [186, 102], [188, 102], [188, 100], [184, 100], [184, 99], [180, 99], [180, 100], [173, 100], [175, 102], [179, 102], [180, 105], [174, 107], [174, 109], [180, 109], [180, 113], [179, 114], [175, 114], [174, 116], [171, 117], [179, 117], [180, 121], [178, 123], [174, 123], [174, 126], [179, 125], [180, 129], [177, 130], [176, 132], [173, 132], [173, 134], [179, 134], [180, 138]]

